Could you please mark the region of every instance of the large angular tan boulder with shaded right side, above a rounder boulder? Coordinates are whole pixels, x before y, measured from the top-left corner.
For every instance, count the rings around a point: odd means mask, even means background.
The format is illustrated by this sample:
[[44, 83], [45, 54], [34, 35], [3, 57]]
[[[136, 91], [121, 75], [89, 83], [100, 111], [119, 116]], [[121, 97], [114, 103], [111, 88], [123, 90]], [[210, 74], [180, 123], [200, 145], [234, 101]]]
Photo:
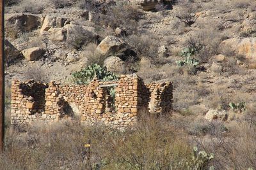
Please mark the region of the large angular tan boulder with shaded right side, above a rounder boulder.
[[128, 50], [125, 41], [115, 36], [107, 36], [103, 39], [96, 48], [96, 52], [101, 55], [109, 55], [115, 53], [122, 53]]

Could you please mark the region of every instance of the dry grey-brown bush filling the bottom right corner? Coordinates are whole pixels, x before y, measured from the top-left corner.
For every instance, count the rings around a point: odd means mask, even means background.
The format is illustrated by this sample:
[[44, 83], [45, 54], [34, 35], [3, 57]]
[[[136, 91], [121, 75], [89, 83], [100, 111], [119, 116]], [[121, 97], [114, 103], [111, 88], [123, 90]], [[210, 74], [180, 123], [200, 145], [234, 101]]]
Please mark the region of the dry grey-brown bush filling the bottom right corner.
[[[228, 169], [256, 168], [256, 128], [244, 123], [233, 123], [229, 127], [230, 138], [221, 143], [216, 156]], [[225, 159], [223, 159], [225, 157]]]

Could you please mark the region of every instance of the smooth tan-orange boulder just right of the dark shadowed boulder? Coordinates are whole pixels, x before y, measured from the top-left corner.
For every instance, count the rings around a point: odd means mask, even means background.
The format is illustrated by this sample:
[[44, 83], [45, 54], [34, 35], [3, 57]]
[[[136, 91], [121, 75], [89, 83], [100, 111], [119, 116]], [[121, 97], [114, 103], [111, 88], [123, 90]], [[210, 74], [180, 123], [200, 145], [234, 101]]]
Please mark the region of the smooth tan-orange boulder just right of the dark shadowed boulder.
[[42, 55], [44, 55], [44, 50], [39, 47], [32, 47], [22, 50], [22, 54], [27, 60], [31, 61], [42, 57]]

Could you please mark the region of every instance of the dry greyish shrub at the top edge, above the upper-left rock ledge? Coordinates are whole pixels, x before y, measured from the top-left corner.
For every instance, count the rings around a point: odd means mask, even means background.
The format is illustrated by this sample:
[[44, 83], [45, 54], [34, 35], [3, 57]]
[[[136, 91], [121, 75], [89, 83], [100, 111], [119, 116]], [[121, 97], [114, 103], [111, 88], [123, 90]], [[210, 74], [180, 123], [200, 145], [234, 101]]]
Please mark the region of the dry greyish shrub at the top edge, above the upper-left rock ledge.
[[13, 6], [13, 10], [19, 13], [29, 12], [37, 14], [42, 13], [46, 5], [46, 1], [22, 0], [17, 6]]

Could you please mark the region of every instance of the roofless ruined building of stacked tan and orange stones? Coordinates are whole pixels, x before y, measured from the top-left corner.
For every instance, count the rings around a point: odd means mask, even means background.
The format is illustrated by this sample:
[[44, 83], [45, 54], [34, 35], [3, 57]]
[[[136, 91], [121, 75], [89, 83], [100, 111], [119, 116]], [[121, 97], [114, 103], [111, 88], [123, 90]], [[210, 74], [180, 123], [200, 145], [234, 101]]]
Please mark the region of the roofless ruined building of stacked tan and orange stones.
[[[115, 109], [108, 85], [115, 87]], [[45, 123], [78, 117], [81, 122], [102, 122], [127, 127], [141, 110], [168, 113], [172, 110], [172, 83], [145, 85], [136, 74], [121, 75], [119, 81], [93, 80], [88, 85], [60, 85], [33, 80], [12, 81], [12, 124]]]

